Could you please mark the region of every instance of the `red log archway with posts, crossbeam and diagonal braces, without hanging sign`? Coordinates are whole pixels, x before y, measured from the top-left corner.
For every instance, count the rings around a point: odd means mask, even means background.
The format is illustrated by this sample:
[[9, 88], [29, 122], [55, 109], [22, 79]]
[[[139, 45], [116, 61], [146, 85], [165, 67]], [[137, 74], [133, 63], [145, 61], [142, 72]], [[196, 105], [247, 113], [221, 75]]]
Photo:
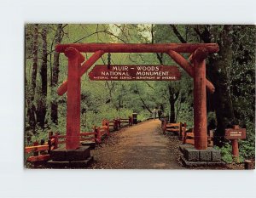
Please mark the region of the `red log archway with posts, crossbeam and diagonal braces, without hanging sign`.
[[[207, 149], [207, 91], [214, 92], [214, 86], [206, 79], [206, 59], [208, 54], [218, 52], [216, 43], [84, 43], [58, 44], [55, 50], [68, 58], [67, 81], [58, 88], [57, 93], [67, 92], [67, 139], [66, 149], [79, 148], [81, 76], [89, 70], [104, 53], [166, 53], [189, 76], [194, 78], [194, 132], [195, 149]], [[84, 53], [94, 53], [84, 62]], [[189, 61], [179, 53], [189, 53]], [[83, 63], [84, 62], [84, 63]]]

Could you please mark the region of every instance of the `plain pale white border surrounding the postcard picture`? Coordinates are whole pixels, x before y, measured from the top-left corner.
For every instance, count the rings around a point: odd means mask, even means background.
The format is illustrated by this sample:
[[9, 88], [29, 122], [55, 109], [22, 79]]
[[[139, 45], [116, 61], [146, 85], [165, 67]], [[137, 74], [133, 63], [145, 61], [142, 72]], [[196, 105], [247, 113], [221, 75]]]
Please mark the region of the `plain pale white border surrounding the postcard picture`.
[[0, 197], [255, 197], [252, 171], [24, 170], [24, 24], [255, 24], [255, 1], [1, 1]]

